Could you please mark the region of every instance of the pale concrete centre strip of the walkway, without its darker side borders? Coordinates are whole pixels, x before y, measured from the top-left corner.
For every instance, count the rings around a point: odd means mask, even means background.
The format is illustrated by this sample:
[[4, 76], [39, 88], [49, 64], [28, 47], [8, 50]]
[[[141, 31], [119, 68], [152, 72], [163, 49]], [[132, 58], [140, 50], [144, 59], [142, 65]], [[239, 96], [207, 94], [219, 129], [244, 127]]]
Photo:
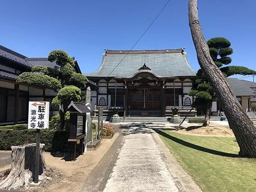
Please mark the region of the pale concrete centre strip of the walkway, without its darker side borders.
[[124, 133], [124, 143], [103, 192], [180, 191], [152, 133], [152, 129], [138, 126]]

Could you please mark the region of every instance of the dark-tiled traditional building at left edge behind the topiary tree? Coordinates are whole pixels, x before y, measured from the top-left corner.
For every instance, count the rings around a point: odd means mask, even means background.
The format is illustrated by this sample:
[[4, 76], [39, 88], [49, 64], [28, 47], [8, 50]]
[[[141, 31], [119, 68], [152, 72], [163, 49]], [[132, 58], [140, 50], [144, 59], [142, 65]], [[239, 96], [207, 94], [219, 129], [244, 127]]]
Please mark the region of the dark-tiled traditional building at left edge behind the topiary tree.
[[[73, 70], [81, 73], [75, 61]], [[51, 103], [57, 91], [46, 87], [28, 86], [24, 83], [17, 83], [18, 75], [23, 72], [31, 72], [36, 65], [59, 69], [55, 62], [48, 58], [28, 58], [9, 48], [0, 46], [0, 124], [27, 122], [28, 101], [48, 101]], [[89, 81], [88, 85], [94, 89], [97, 85]], [[59, 112], [58, 106], [50, 105], [49, 116]]]

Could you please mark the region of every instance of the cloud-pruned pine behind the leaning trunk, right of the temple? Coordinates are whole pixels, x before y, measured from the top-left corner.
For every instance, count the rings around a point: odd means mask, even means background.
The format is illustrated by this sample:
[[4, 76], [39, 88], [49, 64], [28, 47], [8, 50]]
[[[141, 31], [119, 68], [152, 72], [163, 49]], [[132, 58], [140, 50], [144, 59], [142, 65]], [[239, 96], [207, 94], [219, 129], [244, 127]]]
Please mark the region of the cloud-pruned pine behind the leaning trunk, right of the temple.
[[[222, 71], [223, 75], [229, 77], [231, 75], [255, 75], [256, 71], [242, 66], [225, 66], [231, 63], [232, 59], [229, 57], [233, 53], [230, 48], [231, 43], [223, 37], [211, 38], [207, 41], [210, 55], [217, 67]], [[195, 87], [189, 92], [190, 96], [196, 96], [193, 102], [193, 107], [203, 107], [205, 109], [205, 119], [203, 127], [209, 126], [212, 102], [217, 101], [212, 86], [208, 83], [207, 78], [203, 75], [202, 70], [197, 71], [198, 79], [195, 81]]]

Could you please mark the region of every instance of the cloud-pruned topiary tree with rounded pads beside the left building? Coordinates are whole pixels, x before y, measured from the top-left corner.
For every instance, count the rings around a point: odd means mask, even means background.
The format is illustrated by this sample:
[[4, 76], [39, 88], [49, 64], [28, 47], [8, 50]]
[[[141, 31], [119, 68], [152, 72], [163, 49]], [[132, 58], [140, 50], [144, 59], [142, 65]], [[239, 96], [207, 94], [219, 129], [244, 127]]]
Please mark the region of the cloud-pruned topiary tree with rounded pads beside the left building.
[[[17, 82], [60, 89], [52, 104], [60, 106], [60, 130], [63, 130], [67, 107], [71, 101], [81, 101], [80, 88], [85, 87], [88, 80], [86, 76], [72, 70], [72, 67], [75, 66], [74, 59], [65, 51], [54, 50], [50, 52], [48, 60], [55, 62], [60, 66], [60, 69], [35, 66], [32, 68], [32, 72], [19, 75]], [[65, 85], [69, 86], [65, 87]]]

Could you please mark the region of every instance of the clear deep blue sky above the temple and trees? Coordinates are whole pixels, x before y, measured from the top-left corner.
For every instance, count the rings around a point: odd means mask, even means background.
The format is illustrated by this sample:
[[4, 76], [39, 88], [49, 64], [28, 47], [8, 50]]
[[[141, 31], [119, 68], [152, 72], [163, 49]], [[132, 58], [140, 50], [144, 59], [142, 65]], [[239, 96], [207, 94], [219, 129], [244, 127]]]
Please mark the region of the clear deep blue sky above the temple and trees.
[[[1, 45], [27, 57], [47, 57], [50, 51], [62, 49], [77, 59], [82, 73], [89, 73], [98, 69], [104, 48], [129, 50], [167, 0], [0, 2]], [[206, 40], [225, 37], [231, 42], [230, 65], [256, 70], [255, 10], [255, 0], [198, 0]], [[199, 69], [188, 25], [188, 0], [170, 0], [133, 49], [183, 47], [191, 67]]]

